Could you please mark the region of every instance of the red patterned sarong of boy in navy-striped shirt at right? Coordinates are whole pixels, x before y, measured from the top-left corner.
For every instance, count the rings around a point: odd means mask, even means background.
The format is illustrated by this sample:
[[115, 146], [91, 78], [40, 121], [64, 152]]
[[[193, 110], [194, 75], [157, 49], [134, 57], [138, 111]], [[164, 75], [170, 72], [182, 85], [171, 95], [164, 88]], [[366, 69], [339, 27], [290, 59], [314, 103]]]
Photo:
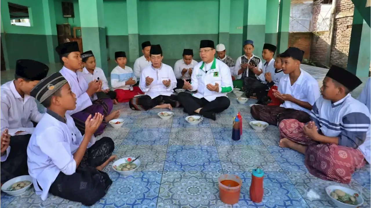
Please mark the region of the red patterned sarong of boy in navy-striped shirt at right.
[[295, 119], [281, 121], [280, 139], [287, 138], [307, 146], [305, 166], [312, 175], [338, 183], [350, 183], [354, 170], [366, 164], [361, 151], [336, 144], [318, 143], [304, 134], [304, 125]]

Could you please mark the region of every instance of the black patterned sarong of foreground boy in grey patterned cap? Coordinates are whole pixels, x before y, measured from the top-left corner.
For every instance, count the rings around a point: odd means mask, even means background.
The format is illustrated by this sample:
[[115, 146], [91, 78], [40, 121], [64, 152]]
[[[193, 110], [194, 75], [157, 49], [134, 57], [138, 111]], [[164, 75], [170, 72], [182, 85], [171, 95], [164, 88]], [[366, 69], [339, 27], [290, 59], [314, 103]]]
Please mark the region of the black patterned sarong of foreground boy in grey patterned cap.
[[49, 192], [70, 201], [91, 206], [103, 198], [112, 181], [108, 174], [96, 169], [102, 165], [115, 149], [109, 137], [103, 137], [86, 150], [80, 165], [72, 175], [60, 172], [50, 186]]

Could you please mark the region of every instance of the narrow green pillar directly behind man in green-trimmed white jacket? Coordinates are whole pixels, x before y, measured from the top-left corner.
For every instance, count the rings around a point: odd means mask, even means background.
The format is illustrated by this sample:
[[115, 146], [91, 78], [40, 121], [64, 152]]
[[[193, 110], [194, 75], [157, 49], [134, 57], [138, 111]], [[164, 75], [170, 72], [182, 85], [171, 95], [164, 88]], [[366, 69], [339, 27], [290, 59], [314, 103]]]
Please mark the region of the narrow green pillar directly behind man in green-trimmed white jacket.
[[229, 28], [231, 16], [231, 0], [219, 0], [219, 43], [229, 51]]

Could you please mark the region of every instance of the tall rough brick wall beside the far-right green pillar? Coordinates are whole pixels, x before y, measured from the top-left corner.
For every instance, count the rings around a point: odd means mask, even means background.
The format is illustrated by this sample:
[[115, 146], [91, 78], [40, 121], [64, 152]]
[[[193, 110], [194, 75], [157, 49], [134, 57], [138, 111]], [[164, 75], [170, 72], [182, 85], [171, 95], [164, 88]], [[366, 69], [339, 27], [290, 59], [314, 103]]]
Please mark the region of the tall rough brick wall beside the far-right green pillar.
[[331, 65], [347, 67], [353, 12], [354, 4], [351, 0], [338, 1], [332, 39]]

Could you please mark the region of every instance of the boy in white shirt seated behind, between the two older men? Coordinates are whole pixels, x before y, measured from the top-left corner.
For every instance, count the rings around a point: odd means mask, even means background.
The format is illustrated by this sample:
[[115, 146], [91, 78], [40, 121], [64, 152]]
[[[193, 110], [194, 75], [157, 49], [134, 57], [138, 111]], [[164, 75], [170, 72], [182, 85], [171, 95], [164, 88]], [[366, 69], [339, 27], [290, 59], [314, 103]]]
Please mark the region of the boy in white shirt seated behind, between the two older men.
[[184, 49], [183, 59], [179, 59], [174, 65], [174, 74], [177, 78], [177, 88], [175, 89], [185, 89], [183, 87], [184, 81], [190, 82], [193, 67], [198, 64], [197, 61], [193, 60], [193, 50]]

